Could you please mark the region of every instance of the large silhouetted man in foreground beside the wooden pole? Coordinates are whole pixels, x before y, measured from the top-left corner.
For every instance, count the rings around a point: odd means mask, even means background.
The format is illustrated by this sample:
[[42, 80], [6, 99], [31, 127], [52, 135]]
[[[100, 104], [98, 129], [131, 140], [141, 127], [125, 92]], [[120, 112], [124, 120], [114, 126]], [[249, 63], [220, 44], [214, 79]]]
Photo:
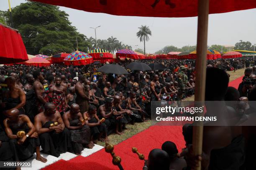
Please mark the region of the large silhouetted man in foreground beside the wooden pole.
[[[217, 121], [215, 123], [218, 123], [219, 126], [209, 126], [211, 122], [205, 122], [203, 154], [201, 156], [193, 156], [192, 146], [189, 147], [187, 164], [192, 169], [198, 166], [200, 159], [202, 159], [202, 169], [210, 170], [239, 170], [244, 163], [242, 126], [230, 126], [235, 125], [240, 117], [232, 107], [226, 106], [223, 101], [228, 88], [228, 81], [228, 75], [224, 70], [215, 67], [207, 68], [205, 101], [218, 102], [214, 102], [214, 104], [205, 102], [207, 109], [205, 116], [216, 116]], [[238, 119], [236, 120], [236, 118]]]

